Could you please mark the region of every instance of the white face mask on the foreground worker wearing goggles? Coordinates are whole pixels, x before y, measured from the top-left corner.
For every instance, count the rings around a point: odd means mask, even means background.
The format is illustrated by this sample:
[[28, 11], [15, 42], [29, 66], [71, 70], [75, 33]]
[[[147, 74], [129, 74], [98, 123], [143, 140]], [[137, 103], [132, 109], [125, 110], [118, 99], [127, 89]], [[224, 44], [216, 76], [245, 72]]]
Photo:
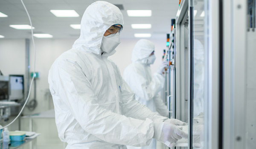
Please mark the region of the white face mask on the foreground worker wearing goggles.
[[110, 53], [120, 44], [119, 33], [110, 34], [102, 37], [102, 45], [100, 47], [102, 52]]

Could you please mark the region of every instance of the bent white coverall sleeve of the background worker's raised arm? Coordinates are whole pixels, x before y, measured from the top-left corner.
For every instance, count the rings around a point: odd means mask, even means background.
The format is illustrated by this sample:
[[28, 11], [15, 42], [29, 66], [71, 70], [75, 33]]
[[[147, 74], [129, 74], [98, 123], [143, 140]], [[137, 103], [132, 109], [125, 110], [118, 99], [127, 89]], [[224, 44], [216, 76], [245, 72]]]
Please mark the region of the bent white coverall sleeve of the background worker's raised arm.
[[131, 86], [132, 91], [144, 100], [151, 100], [163, 88], [164, 77], [154, 73], [152, 80], [148, 82], [144, 74], [138, 71], [129, 72], [130, 78], [125, 79]]

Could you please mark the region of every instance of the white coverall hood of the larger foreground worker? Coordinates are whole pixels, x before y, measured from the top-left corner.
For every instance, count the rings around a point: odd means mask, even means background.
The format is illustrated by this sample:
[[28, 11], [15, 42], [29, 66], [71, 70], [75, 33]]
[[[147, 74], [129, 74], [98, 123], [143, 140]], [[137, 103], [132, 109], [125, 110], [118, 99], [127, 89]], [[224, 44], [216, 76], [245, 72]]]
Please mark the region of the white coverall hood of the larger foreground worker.
[[105, 1], [92, 3], [84, 11], [80, 37], [72, 48], [101, 54], [102, 37], [106, 30], [114, 24], [124, 24], [122, 12], [118, 7]]

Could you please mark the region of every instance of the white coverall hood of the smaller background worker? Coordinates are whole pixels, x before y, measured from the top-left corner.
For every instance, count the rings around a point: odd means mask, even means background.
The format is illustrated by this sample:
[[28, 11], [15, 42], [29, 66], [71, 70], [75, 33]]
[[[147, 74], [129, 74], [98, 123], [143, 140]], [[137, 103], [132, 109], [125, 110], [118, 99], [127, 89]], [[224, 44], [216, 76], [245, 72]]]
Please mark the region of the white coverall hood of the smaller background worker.
[[139, 40], [133, 49], [131, 54], [131, 62], [142, 62], [142, 60], [154, 51], [154, 43], [149, 40], [141, 39]]

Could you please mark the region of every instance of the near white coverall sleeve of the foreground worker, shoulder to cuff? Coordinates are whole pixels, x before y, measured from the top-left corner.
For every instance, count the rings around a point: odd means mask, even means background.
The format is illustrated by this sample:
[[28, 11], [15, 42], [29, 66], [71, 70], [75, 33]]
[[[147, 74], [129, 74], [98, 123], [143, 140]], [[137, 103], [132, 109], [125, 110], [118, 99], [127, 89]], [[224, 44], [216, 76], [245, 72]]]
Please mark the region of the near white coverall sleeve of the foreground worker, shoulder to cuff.
[[54, 89], [65, 101], [67, 111], [86, 132], [115, 144], [146, 146], [151, 142], [154, 135], [152, 120], [126, 117], [100, 107], [97, 103], [100, 99], [78, 63], [61, 60], [52, 69], [51, 84], [56, 85]]

